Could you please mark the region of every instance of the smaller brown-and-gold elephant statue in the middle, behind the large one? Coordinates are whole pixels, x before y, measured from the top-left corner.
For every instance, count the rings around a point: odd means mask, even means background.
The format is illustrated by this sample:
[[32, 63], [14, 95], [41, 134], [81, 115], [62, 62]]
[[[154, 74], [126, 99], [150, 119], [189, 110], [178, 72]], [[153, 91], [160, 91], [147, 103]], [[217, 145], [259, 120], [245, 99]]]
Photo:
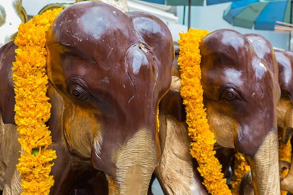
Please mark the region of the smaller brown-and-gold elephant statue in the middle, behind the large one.
[[[251, 39], [259, 41], [258, 48]], [[216, 156], [224, 172], [227, 173], [233, 149], [236, 149], [245, 154], [251, 166], [255, 194], [279, 194], [276, 106], [280, 89], [272, 45], [262, 36], [223, 29], [206, 36], [200, 49], [204, 104], [217, 141]], [[196, 162], [182, 152], [187, 150], [190, 140], [185, 138], [187, 125], [179, 92], [180, 72], [173, 65], [172, 86], [160, 103], [160, 130], [167, 128], [167, 136], [160, 135], [160, 142], [165, 145], [161, 144], [164, 145], [162, 158], [155, 173], [166, 194], [186, 191], [191, 194], [192, 189], [206, 194], [205, 189], [199, 187], [201, 179], [197, 171], [192, 169], [192, 163], [196, 166]], [[178, 168], [174, 163], [180, 159], [185, 167]], [[173, 172], [169, 177], [160, 175], [159, 169], [167, 170], [167, 166], [172, 167]], [[185, 189], [184, 184], [177, 184], [181, 178], [185, 179]]]

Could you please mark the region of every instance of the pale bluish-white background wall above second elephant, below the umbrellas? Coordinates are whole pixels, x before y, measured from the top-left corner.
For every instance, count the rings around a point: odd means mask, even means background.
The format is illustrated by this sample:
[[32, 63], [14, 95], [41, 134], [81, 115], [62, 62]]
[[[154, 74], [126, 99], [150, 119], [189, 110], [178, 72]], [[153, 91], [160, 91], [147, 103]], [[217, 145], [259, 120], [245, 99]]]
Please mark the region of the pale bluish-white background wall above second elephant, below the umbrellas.
[[[289, 35], [274, 33], [273, 31], [264, 31], [264, 30], [251, 30], [242, 27], [236, 27], [230, 25], [227, 21], [222, 19], [223, 11], [229, 6], [230, 3], [222, 3], [217, 5], [210, 6], [192, 6], [191, 7], [191, 22], [190, 25], [192, 28], [204, 29], [204, 30], [217, 30], [222, 28], [234, 29], [242, 34], [247, 33], [256, 33], [267, 38], [272, 46], [288, 49], [289, 46]], [[186, 8], [186, 24], [187, 24], [187, 12]], [[177, 17], [179, 22], [183, 22], [183, 6], [177, 7]]]

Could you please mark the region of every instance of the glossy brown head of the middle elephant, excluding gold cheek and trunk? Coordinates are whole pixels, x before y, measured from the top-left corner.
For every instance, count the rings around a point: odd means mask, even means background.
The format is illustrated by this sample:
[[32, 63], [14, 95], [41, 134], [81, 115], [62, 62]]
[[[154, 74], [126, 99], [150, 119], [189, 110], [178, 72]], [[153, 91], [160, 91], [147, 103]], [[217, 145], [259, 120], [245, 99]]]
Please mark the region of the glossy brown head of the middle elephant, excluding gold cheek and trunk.
[[218, 111], [235, 121], [235, 147], [253, 156], [268, 132], [276, 129], [279, 94], [271, 67], [257, 56], [248, 39], [233, 30], [210, 33], [202, 41], [201, 55], [208, 117]]

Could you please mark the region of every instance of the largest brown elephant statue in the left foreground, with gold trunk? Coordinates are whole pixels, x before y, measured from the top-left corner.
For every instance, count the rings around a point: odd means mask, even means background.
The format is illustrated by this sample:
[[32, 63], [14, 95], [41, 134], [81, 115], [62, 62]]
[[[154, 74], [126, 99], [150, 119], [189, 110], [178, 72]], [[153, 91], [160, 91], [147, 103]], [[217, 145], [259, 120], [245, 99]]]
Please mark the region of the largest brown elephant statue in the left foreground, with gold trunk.
[[[4, 195], [21, 193], [11, 77], [15, 48], [9, 42], [0, 49]], [[96, 170], [105, 172], [110, 195], [146, 194], [160, 159], [157, 108], [170, 86], [174, 57], [166, 24], [102, 2], [76, 3], [51, 25], [46, 50], [52, 104], [47, 125], [57, 153], [50, 194], [78, 190], [84, 175], [94, 178]]]

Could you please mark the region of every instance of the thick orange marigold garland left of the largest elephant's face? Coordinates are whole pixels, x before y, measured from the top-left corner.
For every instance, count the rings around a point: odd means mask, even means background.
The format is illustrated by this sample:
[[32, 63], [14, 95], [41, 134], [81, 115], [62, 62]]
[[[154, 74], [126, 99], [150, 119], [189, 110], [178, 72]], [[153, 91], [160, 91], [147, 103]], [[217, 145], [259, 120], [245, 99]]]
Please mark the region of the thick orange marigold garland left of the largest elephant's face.
[[15, 123], [19, 132], [21, 157], [17, 169], [21, 176], [22, 195], [48, 195], [53, 186], [50, 176], [56, 152], [45, 122], [50, 118], [51, 104], [46, 97], [46, 32], [62, 8], [49, 10], [22, 23], [15, 39], [16, 62], [13, 62]]

